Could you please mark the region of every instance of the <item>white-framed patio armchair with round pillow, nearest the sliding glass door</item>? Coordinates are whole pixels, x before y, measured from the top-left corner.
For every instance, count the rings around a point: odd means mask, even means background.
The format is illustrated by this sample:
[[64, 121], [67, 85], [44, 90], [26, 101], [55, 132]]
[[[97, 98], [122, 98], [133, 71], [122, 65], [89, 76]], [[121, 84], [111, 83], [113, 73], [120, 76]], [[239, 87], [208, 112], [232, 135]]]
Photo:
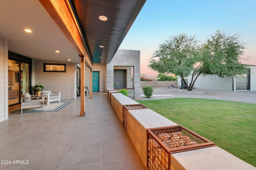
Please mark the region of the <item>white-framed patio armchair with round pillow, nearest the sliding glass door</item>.
[[21, 114], [23, 109], [42, 107], [44, 111], [44, 95], [30, 95], [25, 93], [21, 97]]

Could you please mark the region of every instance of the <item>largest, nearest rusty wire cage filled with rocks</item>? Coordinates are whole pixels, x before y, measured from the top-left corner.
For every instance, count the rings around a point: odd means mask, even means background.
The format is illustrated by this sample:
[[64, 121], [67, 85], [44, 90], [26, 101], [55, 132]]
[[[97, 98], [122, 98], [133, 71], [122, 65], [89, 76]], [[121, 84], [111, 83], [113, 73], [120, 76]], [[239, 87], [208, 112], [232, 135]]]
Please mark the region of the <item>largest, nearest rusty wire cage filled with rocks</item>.
[[215, 146], [181, 125], [147, 129], [149, 170], [170, 170], [170, 154]]

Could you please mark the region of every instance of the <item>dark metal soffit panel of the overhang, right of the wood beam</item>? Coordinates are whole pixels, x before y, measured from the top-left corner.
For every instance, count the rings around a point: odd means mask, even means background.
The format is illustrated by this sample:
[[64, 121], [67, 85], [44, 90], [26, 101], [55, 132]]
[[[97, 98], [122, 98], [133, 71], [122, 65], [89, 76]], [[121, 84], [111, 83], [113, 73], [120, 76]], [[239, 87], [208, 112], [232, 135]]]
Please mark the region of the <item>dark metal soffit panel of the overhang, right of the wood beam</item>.
[[[93, 63], [110, 63], [146, 0], [69, 2]], [[108, 20], [102, 21], [99, 16], [106, 16]]]

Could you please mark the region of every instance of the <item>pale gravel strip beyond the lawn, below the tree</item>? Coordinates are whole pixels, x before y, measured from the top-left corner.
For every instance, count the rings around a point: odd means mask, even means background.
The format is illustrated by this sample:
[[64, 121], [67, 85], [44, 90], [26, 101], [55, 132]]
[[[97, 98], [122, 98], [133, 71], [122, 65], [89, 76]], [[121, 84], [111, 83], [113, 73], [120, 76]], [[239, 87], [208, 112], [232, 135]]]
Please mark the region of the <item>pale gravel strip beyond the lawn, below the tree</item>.
[[180, 88], [154, 88], [153, 96], [148, 99], [140, 91], [140, 100], [168, 99], [176, 97], [216, 99], [256, 104], [256, 91], [219, 91], [207, 89], [193, 89], [192, 92]]

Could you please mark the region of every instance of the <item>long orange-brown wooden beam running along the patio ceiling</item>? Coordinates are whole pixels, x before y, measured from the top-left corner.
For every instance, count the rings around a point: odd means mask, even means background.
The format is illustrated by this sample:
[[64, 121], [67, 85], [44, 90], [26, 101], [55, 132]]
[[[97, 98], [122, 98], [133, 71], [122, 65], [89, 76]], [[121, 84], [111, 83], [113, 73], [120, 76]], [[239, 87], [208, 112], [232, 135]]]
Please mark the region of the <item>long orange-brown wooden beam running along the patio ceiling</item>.
[[92, 68], [92, 61], [86, 50], [82, 34], [72, 8], [68, 0], [39, 0], [45, 10], [64, 33], [66, 38], [78, 51], [78, 54], [85, 56], [86, 64]]

